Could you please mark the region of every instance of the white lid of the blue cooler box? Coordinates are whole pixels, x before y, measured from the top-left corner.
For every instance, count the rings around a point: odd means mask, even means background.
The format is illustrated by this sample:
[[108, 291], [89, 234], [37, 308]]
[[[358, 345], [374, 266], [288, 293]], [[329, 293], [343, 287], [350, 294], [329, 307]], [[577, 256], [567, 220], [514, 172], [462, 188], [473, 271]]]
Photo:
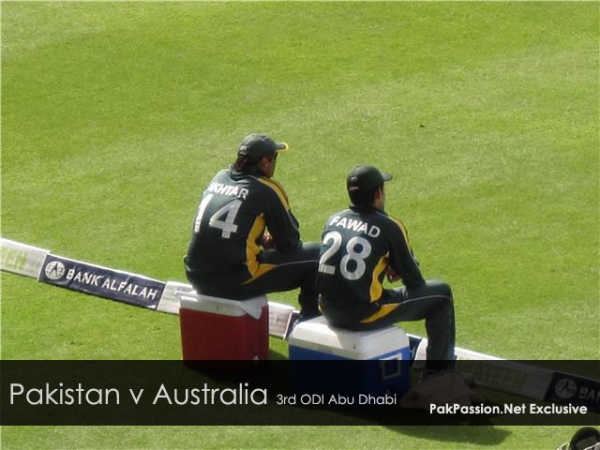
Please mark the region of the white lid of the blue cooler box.
[[408, 337], [401, 328], [349, 331], [332, 328], [322, 316], [296, 325], [289, 343], [290, 346], [349, 359], [392, 357], [409, 347]]

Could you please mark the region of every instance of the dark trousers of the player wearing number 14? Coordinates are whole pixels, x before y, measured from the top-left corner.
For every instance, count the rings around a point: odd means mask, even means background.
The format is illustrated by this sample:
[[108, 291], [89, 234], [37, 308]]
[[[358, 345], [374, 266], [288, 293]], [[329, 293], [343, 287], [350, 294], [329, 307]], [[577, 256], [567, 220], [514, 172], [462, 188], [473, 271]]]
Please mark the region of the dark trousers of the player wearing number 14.
[[227, 274], [202, 274], [186, 269], [196, 292], [214, 297], [247, 300], [271, 292], [300, 288], [298, 303], [304, 317], [320, 315], [317, 307], [317, 268], [320, 243], [307, 242], [293, 252], [264, 250], [259, 256], [258, 275], [242, 283], [230, 283]]

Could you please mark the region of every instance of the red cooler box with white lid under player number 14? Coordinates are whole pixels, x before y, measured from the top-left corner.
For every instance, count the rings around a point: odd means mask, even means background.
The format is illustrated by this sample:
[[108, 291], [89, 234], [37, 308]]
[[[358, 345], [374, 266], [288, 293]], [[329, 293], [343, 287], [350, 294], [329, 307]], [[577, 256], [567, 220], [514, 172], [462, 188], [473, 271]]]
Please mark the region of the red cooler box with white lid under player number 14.
[[184, 361], [269, 359], [266, 296], [244, 301], [183, 296], [179, 320]]

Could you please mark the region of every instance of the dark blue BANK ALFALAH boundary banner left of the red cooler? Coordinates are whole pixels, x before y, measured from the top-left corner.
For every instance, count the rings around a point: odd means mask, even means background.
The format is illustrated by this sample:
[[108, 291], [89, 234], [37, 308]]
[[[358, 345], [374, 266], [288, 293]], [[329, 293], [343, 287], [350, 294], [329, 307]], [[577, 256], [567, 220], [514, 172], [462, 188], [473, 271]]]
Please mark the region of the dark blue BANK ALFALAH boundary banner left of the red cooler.
[[162, 281], [55, 255], [46, 257], [39, 281], [150, 309], [165, 288]]

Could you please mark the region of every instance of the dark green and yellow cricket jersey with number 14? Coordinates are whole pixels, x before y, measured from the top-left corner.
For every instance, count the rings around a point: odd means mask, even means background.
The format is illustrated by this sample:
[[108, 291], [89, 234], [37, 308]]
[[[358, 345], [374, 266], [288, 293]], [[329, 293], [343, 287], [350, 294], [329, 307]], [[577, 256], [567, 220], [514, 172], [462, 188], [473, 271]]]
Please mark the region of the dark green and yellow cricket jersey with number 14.
[[260, 275], [258, 255], [265, 229], [281, 252], [301, 245], [298, 221], [283, 187], [233, 167], [221, 170], [198, 206], [185, 261], [188, 270], [212, 284], [251, 280]]

